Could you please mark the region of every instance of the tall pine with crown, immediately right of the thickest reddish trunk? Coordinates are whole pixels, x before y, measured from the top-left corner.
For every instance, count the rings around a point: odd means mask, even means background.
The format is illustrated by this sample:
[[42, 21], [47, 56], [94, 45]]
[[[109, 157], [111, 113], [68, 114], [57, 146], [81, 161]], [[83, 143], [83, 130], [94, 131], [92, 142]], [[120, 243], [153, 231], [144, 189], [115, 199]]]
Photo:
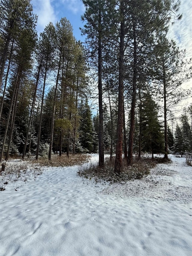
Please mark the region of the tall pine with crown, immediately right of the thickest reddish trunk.
[[[171, 4], [171, 1], [129, 1], [129, 47], [128, 53], [131, 51], [133, 72], [129, 76], [132, 77], [132, 101], [131, 101], [131, 122], [129, 131], [129, 147], [128, 147], [128, 165], [132, 164], [133, 136], [134, 136], [134, 117], [136, 105], [136, 91], [138, 81], [143, 72], [141, 72], [141, 62], [143, 66], [149, 65], [149, 57], [151, 57], [152, 49], [156, 45], [156, 41], [161, 32], [166, 31], [167, 24], [172, 15], [178, 11], [178, 3]], [[125, 53], [126, 54], [126, 53]], [[146, 64], [145, 64], [146, 63]]]

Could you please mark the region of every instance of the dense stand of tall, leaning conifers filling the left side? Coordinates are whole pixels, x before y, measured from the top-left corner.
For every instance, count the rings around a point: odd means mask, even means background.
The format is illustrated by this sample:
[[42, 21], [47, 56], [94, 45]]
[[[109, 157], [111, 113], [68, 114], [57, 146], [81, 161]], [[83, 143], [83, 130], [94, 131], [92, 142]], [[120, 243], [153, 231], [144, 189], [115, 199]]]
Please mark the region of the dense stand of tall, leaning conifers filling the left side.
[[1, 161], [4, 153], [73, 152], [79, 100], [86, 98], [82, 44], [66, 18], [39, 37], [30, 1], [1, 1]]

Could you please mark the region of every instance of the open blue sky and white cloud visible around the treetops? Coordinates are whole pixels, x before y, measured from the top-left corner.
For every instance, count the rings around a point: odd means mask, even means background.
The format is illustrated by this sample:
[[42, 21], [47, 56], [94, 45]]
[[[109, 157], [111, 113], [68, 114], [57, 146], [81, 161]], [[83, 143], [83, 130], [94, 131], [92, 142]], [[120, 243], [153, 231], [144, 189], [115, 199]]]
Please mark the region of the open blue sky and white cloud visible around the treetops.
[[[51, 21], [54, 25], [61, 17], [66, 17], [73, 26], [73, 35], [77, 40], [84, 41], [79, 27], [83, 27], [81, 15], [85, 8], [80, 0], [32, 0], [34, 13], [38, 15], [38, 33], [43, 32], [45, 26]], [[170, 26], [169, 37], [174, 39], [180, 49], [186, 49], [186, 57], [192, 57], [192, 1], [181, 0], [180, 13], [183, 14], [181, 21], [175, 21]], [[184, 89], [190, 90], [192, 80], [183, 84]], [[191, 103], [191, 97], [188, 98]]]

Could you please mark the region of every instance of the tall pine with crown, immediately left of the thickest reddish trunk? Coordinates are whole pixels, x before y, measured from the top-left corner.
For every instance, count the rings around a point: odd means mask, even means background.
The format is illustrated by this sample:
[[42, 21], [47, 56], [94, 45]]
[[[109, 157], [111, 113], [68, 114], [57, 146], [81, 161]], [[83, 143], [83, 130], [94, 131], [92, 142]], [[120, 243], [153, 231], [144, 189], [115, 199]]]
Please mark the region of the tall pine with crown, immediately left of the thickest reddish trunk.
[[[107, 41], [109, 27], [112, 28], [111, 15], [114, 11], [114, 1], [91, 1], [83, 0], [85, 13], [82, 20], [86, 21], [82, 34], [86, 35], [86, 42], [89, 44], [90, 57], [98, 68], [98, 100], [99, 100], [99, 167], [104, 166], [104, 145], [103, 145], [103, 92], [102, 92], [102, 48]], [[114, 26], [114, 25], [113, 25]], [[112, 29], [110, 30], [112, 31]], [[95, 54], [97, 52], [97, 55]], [[97, 56], [97, 57], [96, 57]], [[96, 64], [97, 63], [97, 64]]]

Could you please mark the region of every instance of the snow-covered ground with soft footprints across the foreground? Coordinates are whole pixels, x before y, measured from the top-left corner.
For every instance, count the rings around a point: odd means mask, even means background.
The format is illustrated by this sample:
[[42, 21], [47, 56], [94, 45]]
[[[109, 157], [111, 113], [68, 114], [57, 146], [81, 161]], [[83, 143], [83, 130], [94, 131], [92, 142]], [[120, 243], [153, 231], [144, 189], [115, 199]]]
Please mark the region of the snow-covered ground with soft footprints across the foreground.
[[0, 255], [191, 256], [192, 167], [171, 158], [126, 185], [82, 179], [77, 166], [10, 183], [0, 192]]

